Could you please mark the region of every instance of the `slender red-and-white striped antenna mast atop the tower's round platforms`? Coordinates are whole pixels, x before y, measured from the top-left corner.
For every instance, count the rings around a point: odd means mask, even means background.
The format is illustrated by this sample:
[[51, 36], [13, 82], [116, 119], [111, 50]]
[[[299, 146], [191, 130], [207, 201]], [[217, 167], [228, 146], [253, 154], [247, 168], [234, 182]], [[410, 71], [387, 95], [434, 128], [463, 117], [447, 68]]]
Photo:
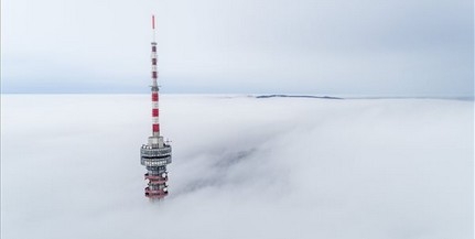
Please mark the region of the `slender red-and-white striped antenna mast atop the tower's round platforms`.
[[[155, 17], [152, 15], [152, 31], [155, 34]], [[153, 37], [154, 39], [154, 37]], [[154, 137], [160, 135], [160, 123], [159, 123], [159, 85], [156, 79], [159, 78], [159, 72], [156, 69], [156, 42], [152, 42], [152, 131]]]

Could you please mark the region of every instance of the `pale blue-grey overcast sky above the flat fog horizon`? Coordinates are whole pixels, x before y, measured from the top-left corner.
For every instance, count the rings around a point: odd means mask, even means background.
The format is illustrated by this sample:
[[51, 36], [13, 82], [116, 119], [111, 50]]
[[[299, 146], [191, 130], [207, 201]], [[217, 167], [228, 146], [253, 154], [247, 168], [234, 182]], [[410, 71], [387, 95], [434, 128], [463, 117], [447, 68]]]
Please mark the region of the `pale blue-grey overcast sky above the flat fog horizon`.
[[472, 0], [4, 0], [2, 91], [472, 96]]

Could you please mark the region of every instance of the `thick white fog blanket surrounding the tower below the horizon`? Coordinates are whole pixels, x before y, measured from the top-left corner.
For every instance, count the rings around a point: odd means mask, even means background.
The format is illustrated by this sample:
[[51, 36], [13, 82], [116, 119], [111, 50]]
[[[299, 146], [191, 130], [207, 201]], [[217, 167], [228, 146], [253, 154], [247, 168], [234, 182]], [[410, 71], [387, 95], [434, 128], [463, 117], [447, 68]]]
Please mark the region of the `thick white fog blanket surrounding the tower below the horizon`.
[[474, 236], [473, 101], [163, 96], [151, 204], [149, 100], [2, 95], [1, 238]]

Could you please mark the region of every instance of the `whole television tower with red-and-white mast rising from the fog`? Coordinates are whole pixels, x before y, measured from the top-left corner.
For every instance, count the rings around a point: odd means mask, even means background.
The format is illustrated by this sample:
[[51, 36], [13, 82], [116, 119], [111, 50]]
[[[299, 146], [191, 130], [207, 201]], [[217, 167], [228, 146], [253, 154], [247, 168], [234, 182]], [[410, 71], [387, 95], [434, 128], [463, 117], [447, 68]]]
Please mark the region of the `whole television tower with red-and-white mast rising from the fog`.
[[166, 181], [169, 175], [166, 164], [172, 162], [172, 148], [169, 142], [163, 141], [160, 135], [159, 123], [159, 85], [156, 79], [156, 42], [155, 42], [155, 17], [152, 15], [152, 135], [149, 137], [148, 144], [140, 149], [140, 163], [147, 167], [144, 178], [148, 180], [145, 197], [151, 202], [160, 200], [169, 194]]

